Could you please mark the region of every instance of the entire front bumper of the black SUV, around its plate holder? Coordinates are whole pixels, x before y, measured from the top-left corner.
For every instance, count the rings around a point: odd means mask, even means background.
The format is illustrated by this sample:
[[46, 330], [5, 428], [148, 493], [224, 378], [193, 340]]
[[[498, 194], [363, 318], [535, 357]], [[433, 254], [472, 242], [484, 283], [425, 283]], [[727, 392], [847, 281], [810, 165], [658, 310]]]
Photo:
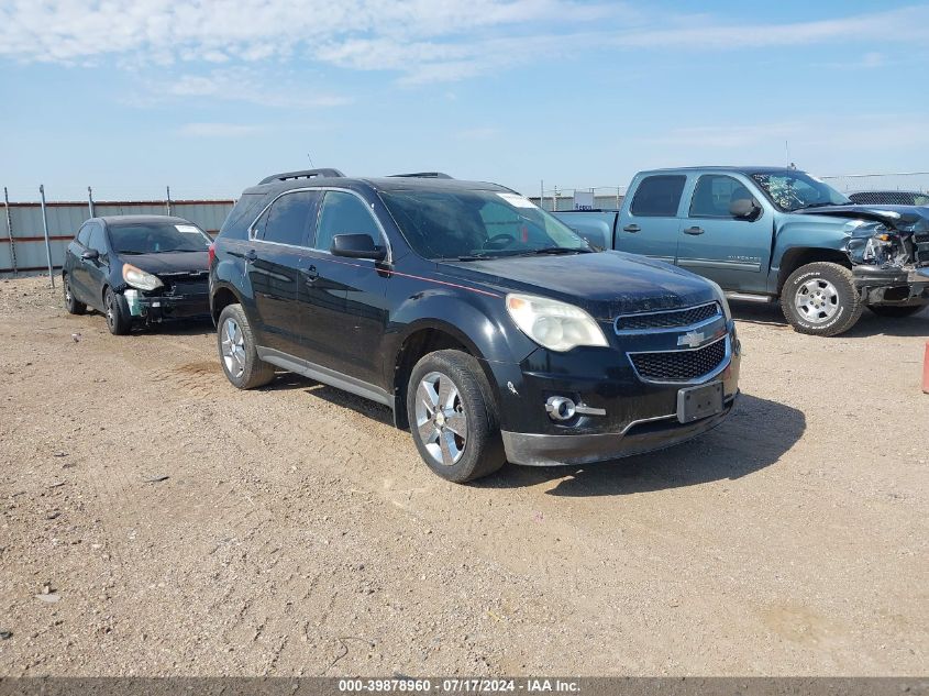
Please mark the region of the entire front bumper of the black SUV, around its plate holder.
[[[684, 352], [677, 331], [609, 336], [613, 350], [539, 349], [519, 364], [486, 363], [499, 399], [507, 460], [534, 466], [606, 461], [672, 446], [716, 427], [734, 404], [741, 362], [734, 323], [721, 330], [729, 346], [723, 362], [689, 382], [644, 379], [630, 360], [640, 352]], [[711, 344], [720, 334], [708, 335]], [[722, 383], [723, 411], [678, 422], [678, 391], [710, 382]], [[566, 397], [584, 410], [560, 421], [545, 409], [552, 397]]]

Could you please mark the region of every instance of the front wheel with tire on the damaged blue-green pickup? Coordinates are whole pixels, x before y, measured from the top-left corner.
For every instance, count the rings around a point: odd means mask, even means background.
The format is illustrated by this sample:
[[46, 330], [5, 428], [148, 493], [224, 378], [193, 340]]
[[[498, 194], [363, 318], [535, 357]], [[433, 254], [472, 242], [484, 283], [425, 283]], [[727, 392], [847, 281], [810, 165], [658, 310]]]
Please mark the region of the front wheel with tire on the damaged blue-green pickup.
[[851, 329], [864, 306], [852, 272], [829, 262], [800, 266], [781, 290], [781, 309], [794, 331], [833, 336]]

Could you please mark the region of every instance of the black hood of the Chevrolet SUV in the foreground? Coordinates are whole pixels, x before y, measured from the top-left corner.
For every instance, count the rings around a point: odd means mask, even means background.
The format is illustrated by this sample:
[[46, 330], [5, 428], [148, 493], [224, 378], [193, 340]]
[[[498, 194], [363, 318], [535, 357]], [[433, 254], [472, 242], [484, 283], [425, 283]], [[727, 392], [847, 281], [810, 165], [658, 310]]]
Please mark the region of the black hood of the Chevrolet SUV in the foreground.
[[717, 298], [712, 285], [688, 270], [615, 251], [442, 262], [439, 270], [501, 294], [527, 292], [577, 305], [602, 320]]

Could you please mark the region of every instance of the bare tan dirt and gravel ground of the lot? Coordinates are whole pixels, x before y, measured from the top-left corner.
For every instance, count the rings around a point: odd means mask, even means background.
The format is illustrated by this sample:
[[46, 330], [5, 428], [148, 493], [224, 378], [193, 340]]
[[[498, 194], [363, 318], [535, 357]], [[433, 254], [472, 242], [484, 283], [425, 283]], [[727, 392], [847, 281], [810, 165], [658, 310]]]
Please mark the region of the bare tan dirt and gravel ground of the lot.
[[0, 281], [0, 674], [926, 672], [927, 312], [739, 307], [716, 431], [465, 487], [381, 407], [46, 286]]

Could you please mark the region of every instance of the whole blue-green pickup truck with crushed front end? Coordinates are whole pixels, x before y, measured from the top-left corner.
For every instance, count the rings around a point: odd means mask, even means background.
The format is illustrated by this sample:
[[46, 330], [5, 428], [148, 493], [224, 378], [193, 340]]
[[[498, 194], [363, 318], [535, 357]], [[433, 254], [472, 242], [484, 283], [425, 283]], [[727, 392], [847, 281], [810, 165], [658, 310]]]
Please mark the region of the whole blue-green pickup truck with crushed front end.
[[596, 246], [687, 268], [730, 299], [779, 298], [801, 333], [848, 331], [864, 307], [904, 317], [929, 302], [929, 209], [855, 206], [797, 169], [641, 172], [619, 211], [555, 216]]

